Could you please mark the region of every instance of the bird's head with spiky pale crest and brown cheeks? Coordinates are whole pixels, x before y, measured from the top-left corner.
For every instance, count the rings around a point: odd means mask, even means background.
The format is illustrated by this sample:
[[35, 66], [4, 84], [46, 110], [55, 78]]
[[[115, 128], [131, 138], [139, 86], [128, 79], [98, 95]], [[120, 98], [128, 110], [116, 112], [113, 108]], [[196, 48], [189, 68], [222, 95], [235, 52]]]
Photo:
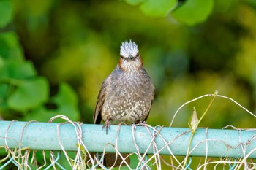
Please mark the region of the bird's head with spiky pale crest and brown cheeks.
[[122, 42], [120, 46], [120, 61], [119, 67], [124, 71], [132, 71], [140, 69], [143, 66], [143, 62], [140, 58], [138, 46], [135, 42], [129, 40], [129, 42]]

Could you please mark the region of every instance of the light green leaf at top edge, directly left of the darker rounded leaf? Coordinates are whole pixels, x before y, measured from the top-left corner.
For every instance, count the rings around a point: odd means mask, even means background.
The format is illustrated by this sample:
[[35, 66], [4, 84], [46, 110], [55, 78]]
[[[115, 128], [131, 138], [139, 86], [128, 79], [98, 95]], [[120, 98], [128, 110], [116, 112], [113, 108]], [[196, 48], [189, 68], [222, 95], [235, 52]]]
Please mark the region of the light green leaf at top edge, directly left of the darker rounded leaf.
[[146, 15], [162, 17], [167, 15], [176, 3], [176, 0], [147, 0], [140, 5], [140, 9]]

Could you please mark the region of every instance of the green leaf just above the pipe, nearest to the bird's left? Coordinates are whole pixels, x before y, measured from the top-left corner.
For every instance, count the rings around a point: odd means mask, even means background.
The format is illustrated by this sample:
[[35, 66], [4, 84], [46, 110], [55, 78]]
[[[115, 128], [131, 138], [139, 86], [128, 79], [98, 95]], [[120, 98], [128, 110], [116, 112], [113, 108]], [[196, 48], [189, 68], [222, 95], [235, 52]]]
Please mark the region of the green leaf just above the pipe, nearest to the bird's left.
[[70, 120], [79, 119], [78, 97], [67, 83], [59, 85], [59, 93], [53, 98], [53, 102], [58, 106], [58, 115], [66, 115]]

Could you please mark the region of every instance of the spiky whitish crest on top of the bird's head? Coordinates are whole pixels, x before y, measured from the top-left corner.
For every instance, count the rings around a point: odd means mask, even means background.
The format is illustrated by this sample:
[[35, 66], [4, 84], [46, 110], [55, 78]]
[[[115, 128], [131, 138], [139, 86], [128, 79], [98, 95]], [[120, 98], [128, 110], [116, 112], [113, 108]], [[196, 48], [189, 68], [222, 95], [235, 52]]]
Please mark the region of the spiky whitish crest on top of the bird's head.
[[125, 41], [121, 43], [120, 46], [120, 55], [124, 56], [124, 58], [129, 58], [129, 55], [135, 57], [139, 52], [138, 46], [135, 42], [129, 40], [129, 42]]

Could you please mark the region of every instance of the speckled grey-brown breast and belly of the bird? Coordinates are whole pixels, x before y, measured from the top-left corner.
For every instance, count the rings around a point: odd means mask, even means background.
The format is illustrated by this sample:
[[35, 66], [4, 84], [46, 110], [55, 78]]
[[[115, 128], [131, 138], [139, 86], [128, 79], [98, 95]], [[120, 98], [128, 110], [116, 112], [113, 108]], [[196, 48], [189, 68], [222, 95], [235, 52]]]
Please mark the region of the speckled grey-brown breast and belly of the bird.
[[153, 91], [148, 91], [150, 82], [145, 82], [139, 74], [123, 74], [115, 77], [107, 89], [102, 120], [112, 120], [112, 124], [132, 124], [145, 120], [151, 108]]

